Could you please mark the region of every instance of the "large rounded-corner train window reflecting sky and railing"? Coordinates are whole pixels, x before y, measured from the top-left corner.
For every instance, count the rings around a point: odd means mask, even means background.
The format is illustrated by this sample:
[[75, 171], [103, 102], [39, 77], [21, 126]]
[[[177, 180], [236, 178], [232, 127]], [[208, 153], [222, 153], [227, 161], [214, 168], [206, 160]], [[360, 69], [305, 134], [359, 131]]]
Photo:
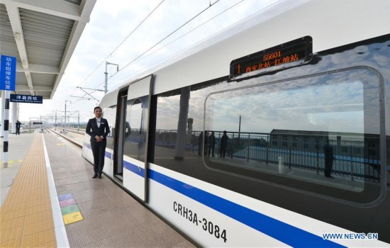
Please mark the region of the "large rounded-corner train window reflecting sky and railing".
[[[379, 150], [357, 156], [349, 149], [352, 142], [366, 150], [370, 143], [379, 145], [377, 72], [357, 68], [272, 84], [256, 85], [256, 80], [206, 99], [205, 130], [228, 130], [229, 137], [229, 159], [206, 157], [207, 167], [287, 185], [304, 181], [303, 190], [307, 183], [317, 184], [323, 187], [313, 187], [316, 193], [350, 201], [379, 197]], [[260, 145], [261, 139], [272, 145]], [[330, 160], [333, 178], [324, 176]]]

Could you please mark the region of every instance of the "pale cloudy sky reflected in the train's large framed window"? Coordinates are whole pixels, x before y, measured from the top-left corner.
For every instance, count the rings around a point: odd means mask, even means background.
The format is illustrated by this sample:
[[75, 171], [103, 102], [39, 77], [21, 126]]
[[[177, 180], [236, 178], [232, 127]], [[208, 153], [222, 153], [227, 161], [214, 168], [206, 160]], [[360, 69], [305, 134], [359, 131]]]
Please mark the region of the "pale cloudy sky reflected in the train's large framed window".
[[[206, 129], [238, 131], [241, 117], [242, 132], [283, 129], [364, 133], [361, 82], [281, 91], [279, 88], [262, 86], [211, 95], [207, 106], [213, 107], [206, 107], [206, 117], [212, 118], [206, 118]], [[360, 94], [352, 96], [350, 92]]]

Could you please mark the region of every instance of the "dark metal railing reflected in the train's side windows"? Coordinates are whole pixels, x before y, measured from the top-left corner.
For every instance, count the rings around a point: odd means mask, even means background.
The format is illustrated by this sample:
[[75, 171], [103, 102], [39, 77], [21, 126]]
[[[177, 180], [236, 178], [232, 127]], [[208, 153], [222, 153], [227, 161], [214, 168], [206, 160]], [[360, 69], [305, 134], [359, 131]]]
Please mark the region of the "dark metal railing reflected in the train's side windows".
[[[208, 134], [211, 131], [206, 131]], [[214, 131], [214, 150], [219, 154], [222, 131]], [[229, 132], [226, 157], [247, 161], [278, 164], [281, 162], [290, 169], [293, 167], [323, 171], [325, 168], [323, 145], [328, 135], [299, 135], [275, 133], [235, 133]], [[338, 133], [340, 134], [340, 133]], [[329, 135], [330, 136], [330, 135]], [[348, 176], [366, 181], [380, 180], [379, 135], [377, 137], [345, 135], [342, 139], [329, 140], [333, 147], [333, 174]], [[334, 136], [336, 137], [336, 136]], [[156, 130], [155, 145], [174, 149], [177, 130]], [[208, 150], [208, 141], [200, 131], [186, 133], [186, 151], [203, 154]], [[206, 153], [205, 153], [206, 154]]]

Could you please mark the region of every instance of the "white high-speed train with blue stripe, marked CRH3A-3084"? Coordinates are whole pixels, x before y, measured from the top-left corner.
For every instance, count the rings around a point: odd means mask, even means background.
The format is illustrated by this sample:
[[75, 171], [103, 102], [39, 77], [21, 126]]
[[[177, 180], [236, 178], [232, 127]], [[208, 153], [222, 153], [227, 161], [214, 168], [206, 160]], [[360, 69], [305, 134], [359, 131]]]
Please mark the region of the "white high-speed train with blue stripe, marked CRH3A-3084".
[[104, 174], [201, 247], [390, 246], [388, 0], [280, 1], [99, 106]]

